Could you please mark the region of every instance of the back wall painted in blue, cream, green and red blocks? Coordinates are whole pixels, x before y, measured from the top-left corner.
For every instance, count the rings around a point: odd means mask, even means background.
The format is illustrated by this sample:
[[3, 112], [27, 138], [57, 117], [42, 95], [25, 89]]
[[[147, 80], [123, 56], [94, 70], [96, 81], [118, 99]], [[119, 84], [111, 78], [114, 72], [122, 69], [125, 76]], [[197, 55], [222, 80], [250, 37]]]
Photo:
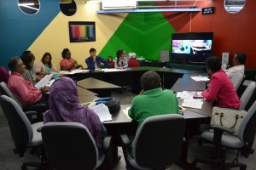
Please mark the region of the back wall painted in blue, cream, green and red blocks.
[[[247, 54], [247, 68], [256, 68], [253, 42], [256, 39], [253, 22], [254, 1], [246, 2], [245, 8], [238, 14], [229, 14], [224, 10], [224, 1], [200, 1], [199, 8], [215, 7], [216, 13], [132, 13], [132, 14], [96, 14], [99, 3], [75, 0], [77, 12], [67, 17], [60, 12], [58, 0], [41, 0], [38, 14], [23, 14], [16, 0], [0, 1], [0, 47], [1, 64], [7, 66], [12, 56], [19, 56], [30, 49], [38, 62], [45, 52], [53, 56], [55, 65], [59, 65], [63, 48], [71, 50], [73, 58], [84, 67], [84, 59], [89, 49], [96, 48], [104, 58], [115, 56], [122, 48], [127, 53], [135, 52], [146, 59], [158, 60], [160, 50], [171, 48], [172, 32], [213, 31], [213, 54], [221, 56], [230, 52], [230, 56], [242, 51]], [[190, 4], [195, 2], [189, 2]], [[69, 42], [68, 21], [95, 21], [96, 42]]]

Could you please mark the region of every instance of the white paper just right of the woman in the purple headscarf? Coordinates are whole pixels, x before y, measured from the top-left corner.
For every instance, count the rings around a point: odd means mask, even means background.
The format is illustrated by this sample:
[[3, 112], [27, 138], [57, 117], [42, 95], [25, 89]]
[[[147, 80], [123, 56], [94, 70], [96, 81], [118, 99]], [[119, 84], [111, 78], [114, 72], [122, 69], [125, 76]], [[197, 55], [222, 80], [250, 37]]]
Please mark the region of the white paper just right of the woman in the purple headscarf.
[[112, 116], [106, 105], [99, 104], [99, 105], [91, 106], [89, 108], [96, 112], [97, 116], [100, 117], [101, 122], [112, 121]]

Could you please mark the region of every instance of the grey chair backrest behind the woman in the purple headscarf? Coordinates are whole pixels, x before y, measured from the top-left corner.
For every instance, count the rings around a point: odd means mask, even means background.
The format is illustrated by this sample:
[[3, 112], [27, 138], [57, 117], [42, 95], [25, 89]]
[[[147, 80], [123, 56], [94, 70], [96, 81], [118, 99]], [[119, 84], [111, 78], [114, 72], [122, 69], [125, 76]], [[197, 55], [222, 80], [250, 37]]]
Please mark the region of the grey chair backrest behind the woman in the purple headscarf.
[[98, 150], [90, 131], [78, 122], [48, 122], [42, 138], [49, 164], [58, 170], [94, 169]]

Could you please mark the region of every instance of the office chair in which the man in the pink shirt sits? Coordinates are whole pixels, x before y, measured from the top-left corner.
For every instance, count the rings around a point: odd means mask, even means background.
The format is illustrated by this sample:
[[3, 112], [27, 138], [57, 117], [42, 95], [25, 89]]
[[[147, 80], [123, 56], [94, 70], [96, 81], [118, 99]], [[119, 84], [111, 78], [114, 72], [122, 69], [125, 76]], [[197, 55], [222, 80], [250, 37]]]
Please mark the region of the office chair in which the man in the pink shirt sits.
[[49, 107], [45, 104], [35, 104], [35, 105], [29, 105], [26, 108], [23, 108], [23, 106], [20, 103], [20, 100], [15, 97], [15, 95], [9, 90], [7, 84], [5, 82], [0, 82], [0, 89], [3, 91], [4, 95], [9, 96], [11, 99], [14, 99], [15, 102], [20, 105], [20, 108], [27, 112], [27, 111], [36, 111], [37, 115], [34, 114], [32, 118], [29, 118], [31, 122], [42, 122], [43, 121], [43, 113], [47, 110], [49, 110]]

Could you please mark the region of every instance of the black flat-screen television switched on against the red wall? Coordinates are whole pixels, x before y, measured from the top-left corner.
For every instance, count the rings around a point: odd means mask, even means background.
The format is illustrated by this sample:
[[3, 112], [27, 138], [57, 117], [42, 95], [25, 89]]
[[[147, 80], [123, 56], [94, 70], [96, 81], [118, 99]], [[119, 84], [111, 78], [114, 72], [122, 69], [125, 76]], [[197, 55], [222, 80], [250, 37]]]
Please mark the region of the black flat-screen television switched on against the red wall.
[[172, 34], [172, 59], [183, 62], [205, 62], [212, 56], [213, 32]]

